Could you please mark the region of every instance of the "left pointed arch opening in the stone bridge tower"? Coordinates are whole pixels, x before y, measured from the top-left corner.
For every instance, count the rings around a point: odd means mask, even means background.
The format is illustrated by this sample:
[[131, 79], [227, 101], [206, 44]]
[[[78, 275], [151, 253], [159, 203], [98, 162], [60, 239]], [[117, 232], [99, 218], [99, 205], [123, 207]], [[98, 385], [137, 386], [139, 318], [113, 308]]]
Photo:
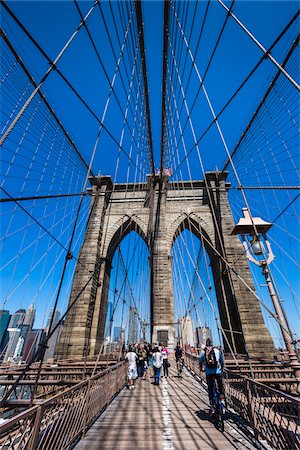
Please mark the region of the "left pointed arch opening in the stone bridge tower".
[[150, 340], [150, 265], [143, 224], [133, 218], [116, 230], [107, 249], [104, 350]]

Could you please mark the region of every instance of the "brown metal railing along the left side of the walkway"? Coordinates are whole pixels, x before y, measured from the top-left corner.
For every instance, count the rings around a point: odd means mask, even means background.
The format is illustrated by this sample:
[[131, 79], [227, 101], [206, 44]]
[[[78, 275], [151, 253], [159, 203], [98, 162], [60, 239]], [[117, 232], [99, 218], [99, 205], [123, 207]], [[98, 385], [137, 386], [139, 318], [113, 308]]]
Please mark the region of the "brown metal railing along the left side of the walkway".
[[0, 448], [69, 448], [126, 383], [126, 366], [120, 362], [75, 386], [40, 402], [0, 426]]

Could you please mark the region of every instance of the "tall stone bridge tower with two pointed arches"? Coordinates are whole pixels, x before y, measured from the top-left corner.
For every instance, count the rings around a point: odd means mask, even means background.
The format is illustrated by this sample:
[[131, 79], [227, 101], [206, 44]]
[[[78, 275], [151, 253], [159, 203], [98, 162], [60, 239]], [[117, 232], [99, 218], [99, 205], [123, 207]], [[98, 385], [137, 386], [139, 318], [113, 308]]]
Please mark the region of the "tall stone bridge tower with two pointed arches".
[[150, 253], [152, 341], [174, 344], [171, 250], [176, 237], [189, 229], [202, 236], [210, 258], [226, 333], [225, 350], [229, 350], [229, 343], [236, 353], [256, 357], [275, 353], [257, 299], [235, 273], [227, 270], [218, 255], [226, 256], [229, 263], [239, 260], [237, 272], [254, 290], [247, 260], [241, 257], [242, 245], [231, 235], [234, 222], [227, 198], [227, 174], [207, 172], [205, 176], [206, 183], [169, 182], [167, 176], [115, 185], [108, 176], [91, 179], [89, 221], [69, 305], [78, 300], [67, 315], [57, 358], [94, 355], [101, 349], [113, 255], [133, 230], [144, 239]]

